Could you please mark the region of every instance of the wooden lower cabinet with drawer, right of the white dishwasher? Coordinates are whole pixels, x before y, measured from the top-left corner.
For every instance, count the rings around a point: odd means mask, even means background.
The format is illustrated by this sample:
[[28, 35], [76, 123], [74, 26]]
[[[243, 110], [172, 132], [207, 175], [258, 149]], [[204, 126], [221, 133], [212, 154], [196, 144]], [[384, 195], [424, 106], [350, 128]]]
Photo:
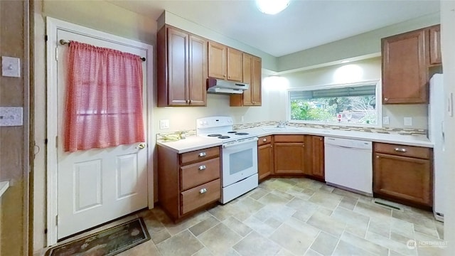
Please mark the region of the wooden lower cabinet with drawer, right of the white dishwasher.
[[375, 143], [373, 193], [399, 202], [433, 205], [431, 149]]

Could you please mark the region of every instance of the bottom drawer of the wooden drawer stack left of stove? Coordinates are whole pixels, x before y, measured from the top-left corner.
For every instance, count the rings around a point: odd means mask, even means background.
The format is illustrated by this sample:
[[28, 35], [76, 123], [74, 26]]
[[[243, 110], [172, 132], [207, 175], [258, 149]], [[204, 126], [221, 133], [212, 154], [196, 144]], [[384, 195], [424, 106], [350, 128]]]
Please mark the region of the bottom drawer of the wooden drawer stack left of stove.
[[220, 179], [191, 188], [181, 193], [182, 214], [188, 213], [208, 203], [218, 201], [221, 197]]

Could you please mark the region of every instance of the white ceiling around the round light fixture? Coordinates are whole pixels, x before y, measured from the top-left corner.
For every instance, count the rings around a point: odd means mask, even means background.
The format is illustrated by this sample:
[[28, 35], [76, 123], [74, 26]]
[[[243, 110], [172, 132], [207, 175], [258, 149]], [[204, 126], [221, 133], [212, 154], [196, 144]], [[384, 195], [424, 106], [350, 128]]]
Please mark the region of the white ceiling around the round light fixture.
[[274, 16], [253, 0], [109, 2], [154, 20], [166, 10], [276, 57], [439, 11], [439, 0], [291, 0]]

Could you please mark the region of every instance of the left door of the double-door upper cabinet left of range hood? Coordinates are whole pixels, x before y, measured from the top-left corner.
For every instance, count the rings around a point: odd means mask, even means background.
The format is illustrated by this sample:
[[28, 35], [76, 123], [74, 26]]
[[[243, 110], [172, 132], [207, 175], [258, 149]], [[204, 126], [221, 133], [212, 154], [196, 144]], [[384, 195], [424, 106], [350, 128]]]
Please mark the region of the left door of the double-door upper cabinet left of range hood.
[[188, 33], [168, 28], [168, 105], [187, 105]]

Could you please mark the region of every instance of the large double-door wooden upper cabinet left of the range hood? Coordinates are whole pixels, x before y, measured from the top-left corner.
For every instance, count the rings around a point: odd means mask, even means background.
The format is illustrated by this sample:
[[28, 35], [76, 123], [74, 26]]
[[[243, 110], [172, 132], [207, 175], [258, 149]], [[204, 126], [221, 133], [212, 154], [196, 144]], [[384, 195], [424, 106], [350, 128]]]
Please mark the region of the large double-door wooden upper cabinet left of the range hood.
[[207, 41], [171, 26], [156, 37], [158, 106], [205, 106]]

